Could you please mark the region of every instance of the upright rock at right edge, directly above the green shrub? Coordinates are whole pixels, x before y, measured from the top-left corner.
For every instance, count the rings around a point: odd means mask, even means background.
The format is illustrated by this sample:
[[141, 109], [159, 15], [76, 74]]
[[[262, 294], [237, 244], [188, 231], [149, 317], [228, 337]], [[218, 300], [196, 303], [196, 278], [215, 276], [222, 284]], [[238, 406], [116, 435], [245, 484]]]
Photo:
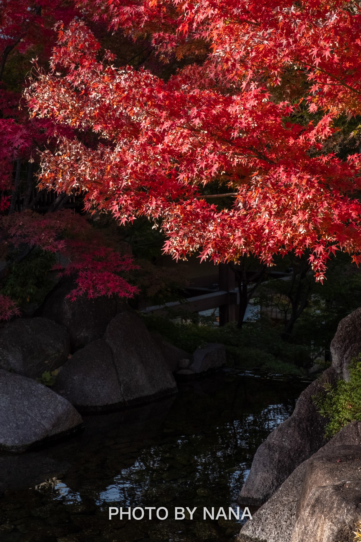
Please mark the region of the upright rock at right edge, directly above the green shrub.
[[361, 352], [361, 307], [343, 318], [331, 342], [332, 366], [339, 378], [349, 379], [347, 366]]

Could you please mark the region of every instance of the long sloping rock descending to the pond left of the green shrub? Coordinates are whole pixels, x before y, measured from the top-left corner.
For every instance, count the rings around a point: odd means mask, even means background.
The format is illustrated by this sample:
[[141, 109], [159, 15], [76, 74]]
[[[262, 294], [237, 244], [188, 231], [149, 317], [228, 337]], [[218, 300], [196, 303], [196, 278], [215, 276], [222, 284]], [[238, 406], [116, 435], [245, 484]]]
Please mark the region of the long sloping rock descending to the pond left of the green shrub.
[[259, 446], [239, 494], [242, 504], [258, 506], [265, 502], [300, 463], [324, 446], [326, 420], [318, 414], [312, 396], [323, 390], [326, 381], [334, 381], [332, 367], [301, 393], [292, 416]]

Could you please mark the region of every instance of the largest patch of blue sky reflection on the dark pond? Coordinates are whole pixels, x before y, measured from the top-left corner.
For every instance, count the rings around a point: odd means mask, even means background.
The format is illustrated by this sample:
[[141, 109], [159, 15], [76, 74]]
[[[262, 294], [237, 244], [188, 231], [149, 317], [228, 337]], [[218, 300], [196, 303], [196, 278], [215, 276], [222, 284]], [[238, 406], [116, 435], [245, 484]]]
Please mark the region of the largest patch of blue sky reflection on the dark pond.
[[[216, 494], [216, 488], [225, 483], [231, 501], [236, 500], [250, 469], [244, 461], [237, 463], [235, 456], [250, 447], [258, 430], [268, 434], [289, 415], [290, 409], [284, 404], [269, 405], [258, 414], [217, 425], [212, 431], [178, 437], [172, 446], [145, 449], [141, 457], [134, 459], [132, 466], [121, 469], [112, 483], [99, 493], [97, 505], [106, 506], [111, 502], [119, 506], [148, 506], [149, 495], [153, 500], [156, 488], [175, 485], [180, 493], [187, 489], [193, 494], [197, 488], [205, 487], [206, 491]], [[194, 467], [192, 474], [181, 475], [182, 464], [174, 467], [179, 456], [192, 458], [193, 462], [189, 463]], [[178, 479], [172, 480], [169, 473], [173, 472], [174, 476], [180, 474]], [[154, 476], [158, 473], [158, 477]], [[162, 474], [170, 478], [162, 479]]]

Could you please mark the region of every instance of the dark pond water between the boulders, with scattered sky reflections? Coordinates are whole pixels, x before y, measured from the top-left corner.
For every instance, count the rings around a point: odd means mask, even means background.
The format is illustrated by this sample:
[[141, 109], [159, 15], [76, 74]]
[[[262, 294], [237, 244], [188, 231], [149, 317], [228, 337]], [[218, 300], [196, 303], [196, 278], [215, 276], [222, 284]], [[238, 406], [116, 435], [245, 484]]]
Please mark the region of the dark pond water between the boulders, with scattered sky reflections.
[[[83, 433], [50, 448], [0, 455], [0, 540], [234, 540], [245, 520], [205, 521], [203, 507], [237, 507], [255, 450], [307, 384], [225, 369], [162, 401], [83, 416]], [[109, 521], [109, 506], [169, 515]], [[176, 506], [197, 507], [193, 520], [175, 520]]]

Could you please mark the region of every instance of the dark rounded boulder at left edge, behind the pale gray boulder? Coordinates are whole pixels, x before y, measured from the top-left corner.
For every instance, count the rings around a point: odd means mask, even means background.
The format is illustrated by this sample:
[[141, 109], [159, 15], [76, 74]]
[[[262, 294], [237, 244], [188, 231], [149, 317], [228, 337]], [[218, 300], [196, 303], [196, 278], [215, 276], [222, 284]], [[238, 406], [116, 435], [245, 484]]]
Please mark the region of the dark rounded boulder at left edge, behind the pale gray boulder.
[[69, 335], [48, 318], [18, 318], [0, 330], [0, 369], [41, 377], [65, 363]]

